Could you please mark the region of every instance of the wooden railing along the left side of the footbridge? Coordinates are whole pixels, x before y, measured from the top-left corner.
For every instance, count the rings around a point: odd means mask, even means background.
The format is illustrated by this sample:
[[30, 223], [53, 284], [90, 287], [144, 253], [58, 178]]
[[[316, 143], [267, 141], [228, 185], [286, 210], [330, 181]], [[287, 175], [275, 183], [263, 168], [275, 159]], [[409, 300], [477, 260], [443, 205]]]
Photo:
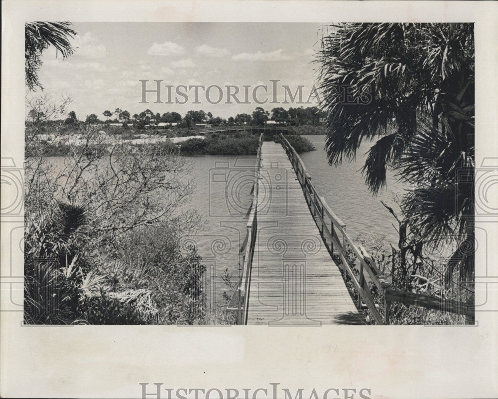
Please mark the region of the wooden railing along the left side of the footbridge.
[[263, 134], [259, 135], [259, 145], [257, 148], [256, 163], [254, 169], [254, 186], [252, 190], [252, 203], [249, 208], [249, 220], [247, 223], [246, 237], [239, 249], [241, 275], [237, 289], [230, 299], [227, 312], [236, 312], [237, 324], [247, 324], [248, 307], [249, 307], [249, 284], [252, 269], [252, 255], [254, 253], [254, 244], [256, 242], [257, 232], [257, 194], [259, 181], [259, 168], [261, 167], [261, 146], [263, 143]]

